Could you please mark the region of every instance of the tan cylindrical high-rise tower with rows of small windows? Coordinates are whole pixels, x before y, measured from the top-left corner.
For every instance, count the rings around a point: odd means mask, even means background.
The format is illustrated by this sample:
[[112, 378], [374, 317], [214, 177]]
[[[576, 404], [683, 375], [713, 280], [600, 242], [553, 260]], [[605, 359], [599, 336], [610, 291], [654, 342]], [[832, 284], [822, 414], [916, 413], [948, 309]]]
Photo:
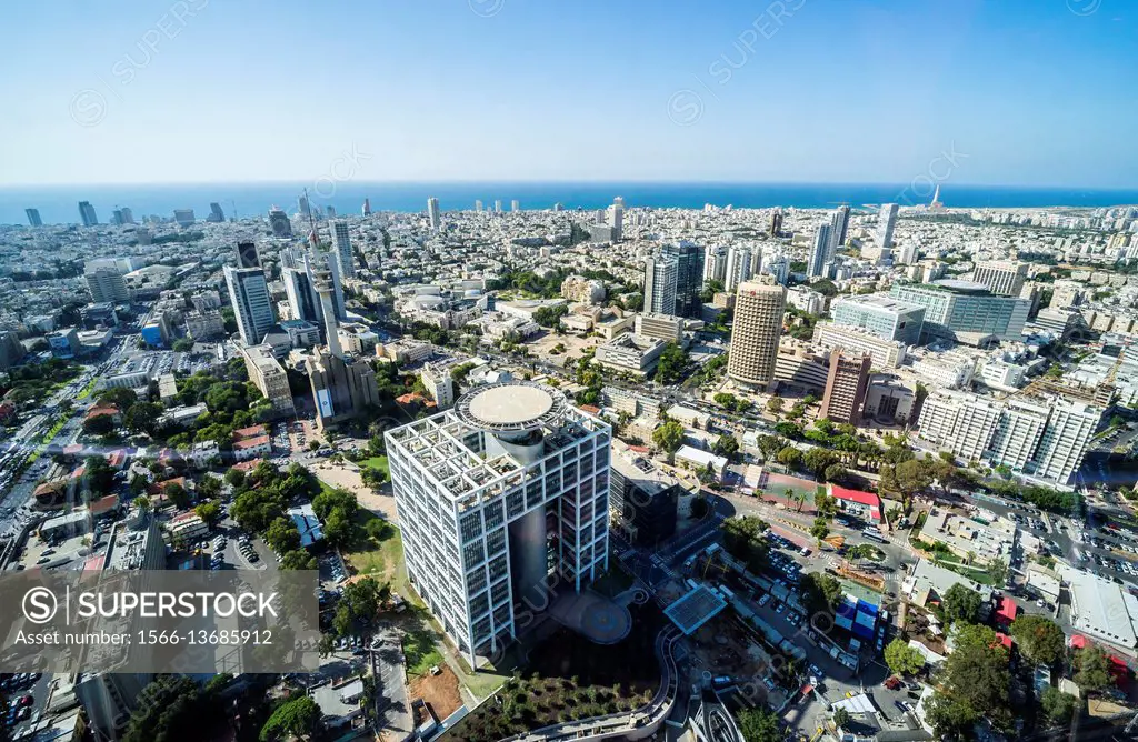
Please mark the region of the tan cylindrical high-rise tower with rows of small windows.
[[766, 388], [770, 384], [785, 311], [786, 289], [773, 278], [764, 275], [739, 285], [727, 376], [750, 387]]

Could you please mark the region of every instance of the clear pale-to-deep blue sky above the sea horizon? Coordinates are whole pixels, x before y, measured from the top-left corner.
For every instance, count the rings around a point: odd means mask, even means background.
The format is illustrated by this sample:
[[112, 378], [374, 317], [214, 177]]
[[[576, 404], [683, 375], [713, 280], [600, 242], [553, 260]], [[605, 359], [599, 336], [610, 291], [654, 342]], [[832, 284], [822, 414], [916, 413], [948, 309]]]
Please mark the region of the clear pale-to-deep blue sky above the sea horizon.
[[353, 147], [368, 181], [1138, 181], [1129, 0], [49, 0], [0, 42], [5, 186]]

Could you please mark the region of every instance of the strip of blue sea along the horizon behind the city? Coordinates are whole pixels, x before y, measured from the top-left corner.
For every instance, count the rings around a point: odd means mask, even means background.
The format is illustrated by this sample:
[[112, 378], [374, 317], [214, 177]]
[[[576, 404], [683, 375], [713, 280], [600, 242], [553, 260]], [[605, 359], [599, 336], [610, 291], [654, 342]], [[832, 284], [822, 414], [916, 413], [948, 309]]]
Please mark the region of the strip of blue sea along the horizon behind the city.
[[[1103, 208], [1138, 204], [1138, 189], [1066, 189], [999, 186], [940, 184], [940, 199], [948, 208]], [[129, 206], [135, 220], [157, 214], [168, 217], [175, 208], [192, 208], [198, 219], [217, 201], [226, 217], [264, 215], [278, 205], [288, 213], [297, 211], [303, 189], [318, 206], [332, 206], [338, 214], [360, 214], [364, 198], [372, 212], [421, 212], [427, 198], [439, 199], [444, 212], [468, 211], [475, 200], [493, 209], [495, 199], [509, 212], [517, 199], [523, 211], [547, 209], [562, 204], [566, 209], [603, 208], [620, 196], [628, 207], [702, 208], [731, 205], [735, 208], [833, 208], [849, 204], [865, 208], [875, 204], [902, 206], [927, 204], [930, 183], [848, 184], [848, 183], [739, 183], [739, 182], [313, 182], [257, 183], [171, 183], [107, 186], [35, 186], [0, 188], [0, 223], [26, 224], [24, 209], [34, 207], [48, 224], [77, 223], [80, 200], [91, 201], [101, 223], [107, 223], [116, 206]]]

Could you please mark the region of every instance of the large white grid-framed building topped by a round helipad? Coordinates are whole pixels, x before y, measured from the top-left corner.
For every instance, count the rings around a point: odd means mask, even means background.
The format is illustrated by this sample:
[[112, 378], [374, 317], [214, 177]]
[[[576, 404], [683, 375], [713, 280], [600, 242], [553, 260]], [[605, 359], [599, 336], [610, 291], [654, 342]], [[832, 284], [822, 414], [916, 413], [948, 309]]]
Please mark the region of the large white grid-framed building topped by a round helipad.
[[551, 387], [480, 387], [386, 434], [407, 578], [465, 656], [608, 568], [611, 429]]

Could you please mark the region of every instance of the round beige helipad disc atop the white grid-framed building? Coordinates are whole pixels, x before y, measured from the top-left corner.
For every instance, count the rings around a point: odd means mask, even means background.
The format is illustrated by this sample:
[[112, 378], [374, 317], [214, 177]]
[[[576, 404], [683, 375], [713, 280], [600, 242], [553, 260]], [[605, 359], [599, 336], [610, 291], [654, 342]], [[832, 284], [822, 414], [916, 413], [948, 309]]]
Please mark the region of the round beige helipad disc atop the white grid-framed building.
[[468, 391], [455, 402], [454, 412], [475, 428], [521, 432], [560, 419], [568, 407], [564, 395], [553, 387], [508, 381]]

